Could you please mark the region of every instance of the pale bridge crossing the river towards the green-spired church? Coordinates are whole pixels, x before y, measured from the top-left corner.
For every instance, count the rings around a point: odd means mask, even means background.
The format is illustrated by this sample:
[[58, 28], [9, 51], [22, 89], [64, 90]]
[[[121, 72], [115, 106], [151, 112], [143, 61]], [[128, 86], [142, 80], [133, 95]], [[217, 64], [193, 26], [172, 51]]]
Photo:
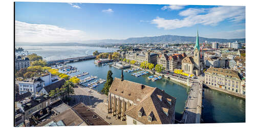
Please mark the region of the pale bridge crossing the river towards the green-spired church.
[[182, 123], [200, 123], [202, 114], [202, 82], [194, 82], [191, 85], [189, 95], [182, 116]]

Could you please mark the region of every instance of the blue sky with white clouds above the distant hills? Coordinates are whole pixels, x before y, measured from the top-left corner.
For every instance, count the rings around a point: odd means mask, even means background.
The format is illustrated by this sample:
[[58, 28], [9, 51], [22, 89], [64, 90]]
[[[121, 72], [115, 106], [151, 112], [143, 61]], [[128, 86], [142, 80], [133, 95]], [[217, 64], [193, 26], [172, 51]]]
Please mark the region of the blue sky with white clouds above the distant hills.
[[183, 35], [245, 38], [245, 7], [15, 3], [17, 42]]

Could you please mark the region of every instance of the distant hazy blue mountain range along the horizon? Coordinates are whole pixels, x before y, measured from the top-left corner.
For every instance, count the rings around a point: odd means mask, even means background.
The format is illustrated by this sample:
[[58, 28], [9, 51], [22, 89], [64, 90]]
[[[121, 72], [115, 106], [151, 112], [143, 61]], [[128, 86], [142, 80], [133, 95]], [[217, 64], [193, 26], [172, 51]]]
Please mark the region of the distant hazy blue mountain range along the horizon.
[[[235, 42], [235, 41], [241, 41], [245, 42], [245, 38], [237, 38], [237, 39], [221, 39], [221, 38], [205, 38], [205, 37], [199, 37], [200, 42], [205, 42], [207, 40], [208, 42], [211, 41], [217, 41], [217, 42]], [[178, 36], [178, 35], [162, 35], [162, 36], [154, 36], [154, 37], [131, 37], [127, 39], [100, 39], [100, 40], [86, 40], [82, 43], [61, 43], [66, 44], [65, 46], [71, 46], [71, 44], [77, 45], [77, 46], [88, 46], [91, 45], [106, 45], [106, 44], [145, 44], [145, 43], [154, 43], [154, 42], [173, 42], [173, 43], [179, 43], [179, 42], [195, 42], [196, 36]], [[87, 45], [86, 45], [87, 44]], [[44, 45], [44, 46], [55, 46], [59, 45], [59, 43], [19, 43], [17, 42], [16, 45]], [[63, 45], [62, 45], [63, 46]]]

